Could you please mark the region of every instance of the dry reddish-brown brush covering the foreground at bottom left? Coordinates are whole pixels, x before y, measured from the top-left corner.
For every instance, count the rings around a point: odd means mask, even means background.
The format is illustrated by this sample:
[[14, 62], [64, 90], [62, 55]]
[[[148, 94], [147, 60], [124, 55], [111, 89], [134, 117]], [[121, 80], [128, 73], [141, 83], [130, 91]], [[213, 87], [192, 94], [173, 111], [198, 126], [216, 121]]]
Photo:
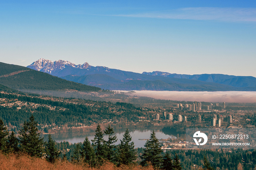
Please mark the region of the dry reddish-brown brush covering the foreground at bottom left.
[[116, 167], [113, 163], [105, 162], [98, 168], [86, 165], [72, 164], [68, 161], [57, 161], [52, 164], [45, 159], [33, 158], [29, 155], [4, 155], [0, 153], [1, 170], [154, 170], [152, 166], [141, 167], [138, 165]]

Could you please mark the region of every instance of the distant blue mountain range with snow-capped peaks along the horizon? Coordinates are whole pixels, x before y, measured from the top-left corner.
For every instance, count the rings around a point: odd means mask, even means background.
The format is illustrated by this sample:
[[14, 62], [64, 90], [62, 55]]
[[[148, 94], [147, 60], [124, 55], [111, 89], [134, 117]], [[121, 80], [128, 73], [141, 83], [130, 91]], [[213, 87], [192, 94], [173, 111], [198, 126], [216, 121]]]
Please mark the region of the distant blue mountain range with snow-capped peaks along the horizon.
[[177, 91], [256, 91], [256, 78], [224, 74], [171, 74], [167, 72], [133, 73], [87, 62], [75, 65], [59, 60], [39, 59], [27, 66], [85, 85], [109, 90], [177, 90]]

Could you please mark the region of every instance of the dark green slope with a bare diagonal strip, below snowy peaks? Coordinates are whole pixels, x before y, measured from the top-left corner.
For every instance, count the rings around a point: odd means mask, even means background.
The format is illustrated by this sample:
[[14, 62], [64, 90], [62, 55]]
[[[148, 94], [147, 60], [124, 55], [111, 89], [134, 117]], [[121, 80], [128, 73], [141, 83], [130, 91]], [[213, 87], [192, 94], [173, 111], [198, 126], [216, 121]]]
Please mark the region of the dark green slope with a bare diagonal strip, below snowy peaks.
[[0, 62], [0, 84], [16, 90], [64, 90], [84, 92], [99, 91], [100, 88], [67, 81], [27, 67]]

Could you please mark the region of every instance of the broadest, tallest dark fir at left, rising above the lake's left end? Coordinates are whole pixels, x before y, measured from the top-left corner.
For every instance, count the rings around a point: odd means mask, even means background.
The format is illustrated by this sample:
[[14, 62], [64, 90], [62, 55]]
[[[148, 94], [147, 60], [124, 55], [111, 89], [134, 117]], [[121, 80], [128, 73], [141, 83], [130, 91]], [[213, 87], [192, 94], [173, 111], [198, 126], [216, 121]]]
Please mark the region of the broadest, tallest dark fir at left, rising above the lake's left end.
[[24, 122], [19, 131], [20, 148], [32, 157], [41, 158], [44, 154], [44, 138], [41, 138], [40, 133], [38, 133], [37, 122], [34, 121], [33, 115], [30, 116], [29, 120], [29, 122]]

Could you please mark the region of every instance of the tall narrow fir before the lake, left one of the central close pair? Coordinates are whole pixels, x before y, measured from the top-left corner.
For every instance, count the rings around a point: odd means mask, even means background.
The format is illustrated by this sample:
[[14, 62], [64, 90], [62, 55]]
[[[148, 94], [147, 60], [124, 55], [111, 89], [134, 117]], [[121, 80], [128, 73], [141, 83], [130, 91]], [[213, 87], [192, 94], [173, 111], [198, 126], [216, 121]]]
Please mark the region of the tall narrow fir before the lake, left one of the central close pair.
[[95, 130], [95, 135], [92, 142], [95, 149], [97, 161], [102, 161], [102, 159], [105, 159], [106, 157], [106, 152], [105, 147], [103, 146], [103, 132], [101, 131], [101, 126], [99, 124], [97, 125], [97, 128]]

